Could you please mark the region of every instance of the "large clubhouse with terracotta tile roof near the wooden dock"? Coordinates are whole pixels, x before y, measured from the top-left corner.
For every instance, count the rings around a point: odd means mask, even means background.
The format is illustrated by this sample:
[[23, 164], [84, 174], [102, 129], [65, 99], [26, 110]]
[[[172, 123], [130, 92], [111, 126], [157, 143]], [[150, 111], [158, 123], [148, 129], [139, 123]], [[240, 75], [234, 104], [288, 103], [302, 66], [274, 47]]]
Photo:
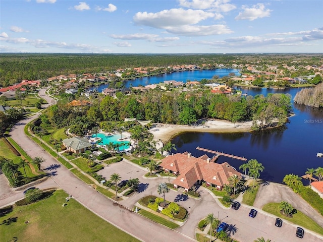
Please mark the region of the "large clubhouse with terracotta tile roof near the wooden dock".
[[228, 178], [234, 174], [241, 177], [241, 173], [228, 162], [222, 164], [212, 162], [207, 155], [198, 158], [191, 153], [184, 152], [169, 155], [159, 164], [166, 172], [178, 175], [172, 181], [174, 188], [182, 187], [188, 191], [193, 185], [201, 185], [205, 181], [207, 186], [222, 189], [225, 184], [229, 185]]

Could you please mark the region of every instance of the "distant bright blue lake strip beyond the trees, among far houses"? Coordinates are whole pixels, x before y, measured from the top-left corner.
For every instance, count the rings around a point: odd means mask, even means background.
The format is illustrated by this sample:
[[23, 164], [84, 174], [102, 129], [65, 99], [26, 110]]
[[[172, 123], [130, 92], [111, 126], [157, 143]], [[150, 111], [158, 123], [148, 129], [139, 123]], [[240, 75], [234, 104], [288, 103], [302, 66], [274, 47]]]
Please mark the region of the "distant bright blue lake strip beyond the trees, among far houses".
[[[164, 81], [175, 80], [178, 82], [186, 82], [187, 80], [190, 81], [200, 81], [204, 78], [211, 79], [214, 75], [221, 77], [228, 76], [229, 73], [235, 73], [236, 76], [240, 76], [239, 69], [214, 69], [214, 70], [196, 70], [196, 71], [186, 71], [186, 72], [173, 72], [173, 73], [166, 73], [158, 76], [151, 76], [151, 77], [143, 77], [143, 78], [136, 78], [134, 80], [125, 81], [126, 87], [130, 87], [130, 85], [134, 87], [138, 87], [139, 85], [146, 86], [149, 84], [156, 84]], [[104, 88], [109, 87], [109, 84], [102, 84], [96, 88], [98, 92], [101, 92]]]

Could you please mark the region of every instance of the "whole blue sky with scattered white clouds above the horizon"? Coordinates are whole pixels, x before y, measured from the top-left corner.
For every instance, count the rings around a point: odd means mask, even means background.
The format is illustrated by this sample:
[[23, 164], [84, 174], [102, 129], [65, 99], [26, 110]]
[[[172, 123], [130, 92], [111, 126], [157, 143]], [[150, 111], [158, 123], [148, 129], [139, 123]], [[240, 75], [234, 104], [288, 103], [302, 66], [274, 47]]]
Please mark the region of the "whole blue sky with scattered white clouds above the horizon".
[[323, 1], [0, 0], [0, 52], [323, 52]]

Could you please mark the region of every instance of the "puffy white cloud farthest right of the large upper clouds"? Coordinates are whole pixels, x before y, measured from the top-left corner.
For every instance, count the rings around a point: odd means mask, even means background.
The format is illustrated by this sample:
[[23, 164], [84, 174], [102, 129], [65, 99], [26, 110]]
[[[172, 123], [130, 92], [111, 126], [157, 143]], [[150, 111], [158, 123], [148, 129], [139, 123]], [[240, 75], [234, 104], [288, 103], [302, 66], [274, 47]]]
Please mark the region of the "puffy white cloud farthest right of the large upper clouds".
[[258, 18], [264, 18], [271, 16], [272, 10], [265, 9], [263, 4], [256, 4], [252, 8], [247, 8], [247, 6], [242, 6], [243, 12], [240, 12], [235, 20], [249, 20], [253, 21]]

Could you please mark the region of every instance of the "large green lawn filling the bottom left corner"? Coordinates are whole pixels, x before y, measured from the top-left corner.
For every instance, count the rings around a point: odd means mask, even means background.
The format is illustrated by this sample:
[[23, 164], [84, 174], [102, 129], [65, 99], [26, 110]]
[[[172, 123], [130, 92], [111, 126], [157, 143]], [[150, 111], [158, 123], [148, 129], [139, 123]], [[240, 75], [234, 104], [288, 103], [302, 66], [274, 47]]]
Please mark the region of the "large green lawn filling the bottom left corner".
[[[74, 199], [62, 207], [67, 196], [59, 190], [37, 203], [15, 207], [11, 213], [1, 217], [1, 221], [9, 218], [14, 221], [0, 225], [1, 241], [139, 241]], [[25, 221], [29, 223], [26, 225]]]

